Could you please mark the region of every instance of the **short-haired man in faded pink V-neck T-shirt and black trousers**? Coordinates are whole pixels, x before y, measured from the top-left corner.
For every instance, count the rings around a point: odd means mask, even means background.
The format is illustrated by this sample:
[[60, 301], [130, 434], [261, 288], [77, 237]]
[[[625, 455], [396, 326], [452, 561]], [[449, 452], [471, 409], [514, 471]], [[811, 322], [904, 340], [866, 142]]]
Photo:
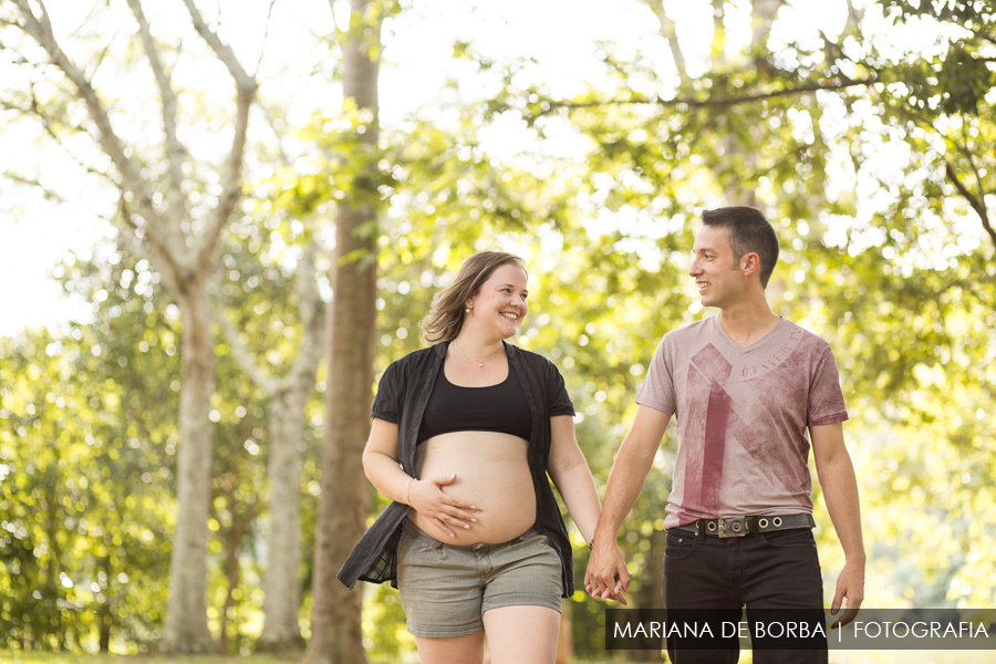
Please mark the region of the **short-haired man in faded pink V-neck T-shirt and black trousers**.
[[[629, 592], [616, 537], [671, 416], [678, 450], [664, 527], [664, 605], [722, 610], [822, 610], [812, 538], [810, 443], [823, 497], [847, 557], [831, 613], [853, 620], [864, 596], [858, 484], [843, 440], [848, 418], [837, 363], [820, 338], [771, 312], [765, 288], [778, 239], [758, 210], [703, 214], [692, 267], [702, 303], [719, 314], [667, 333], [636, 393], [636, 416], [609, 476], [585, 588]], [[811, 615], [811, 613], [810, 613]], [[672, 661], [736, 662], [734, 650], [681, 650]], [[755, 644], [757, 645], [757, 643]], [[757, 651], [756, 663], [827, 662], [826, 651]]]

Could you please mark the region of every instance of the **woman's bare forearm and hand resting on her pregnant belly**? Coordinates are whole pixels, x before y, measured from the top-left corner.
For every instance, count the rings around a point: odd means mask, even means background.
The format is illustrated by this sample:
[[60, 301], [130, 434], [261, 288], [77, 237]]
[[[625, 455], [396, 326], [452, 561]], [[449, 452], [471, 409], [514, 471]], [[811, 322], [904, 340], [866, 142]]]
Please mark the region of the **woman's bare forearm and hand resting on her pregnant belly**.
[[363, 471], [382, 496], [411, 506], [449, 537], [455, 537], [449, 527], [470, 528], [470, 522], [477, 521], [471, 513], [477, 510], [475, 506], [442, 489], [452, 484], [456, 475], [415, 479], [402, 470], [397, 460], [397, 425], [394, 423], [373, 418], [363, 450]]

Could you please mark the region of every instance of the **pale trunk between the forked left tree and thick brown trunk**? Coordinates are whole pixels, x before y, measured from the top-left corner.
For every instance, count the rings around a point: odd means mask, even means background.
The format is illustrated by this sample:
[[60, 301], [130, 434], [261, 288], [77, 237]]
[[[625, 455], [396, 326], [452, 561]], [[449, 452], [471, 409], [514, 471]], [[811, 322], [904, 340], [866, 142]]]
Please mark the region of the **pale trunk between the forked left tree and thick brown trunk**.
[[[303, 349], [301, 352], [305, 352]], [[307, 383], [307, 384], [305, 384]], [[257, 650], [302, 650], [301, 610], [301, 450], [304, 405], [314, 373], [270, 397], [270, 533], [263, 582], [263, 629]]]

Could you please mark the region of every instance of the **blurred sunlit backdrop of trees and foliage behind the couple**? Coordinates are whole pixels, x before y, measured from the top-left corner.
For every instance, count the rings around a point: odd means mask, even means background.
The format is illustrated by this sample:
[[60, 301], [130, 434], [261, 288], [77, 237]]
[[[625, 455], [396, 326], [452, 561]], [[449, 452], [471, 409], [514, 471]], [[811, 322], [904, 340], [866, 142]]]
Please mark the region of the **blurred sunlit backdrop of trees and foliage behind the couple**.
[[[868, 603], [996, 604], [993, 2], [633, 0], [582, 74], [456, 31], [414, 106], [393, 54], [435, 45], [425, 7], [295, 6], [291, 62], [264, 38], [291, 9], [247, 7], [0, 2], [0, 142], [37, 149], [3, 190], [113, 229], [52, 268], [90, 318], [0, 339], [0, 647], [411, 658], [396, 593], [334, 573], [384, 507], [372, 391], [433, 295], [476, 250], [526, 259], [517, 343], [604, 483], [661, 335], [710, 313], [696, 215], [733, 204], [779, 231], [774, 310], [837, 354]], [[625, 529], [639, 605], [673, 458], [668, 432]], [[568, 602], [577, 658], [602, 611]]]

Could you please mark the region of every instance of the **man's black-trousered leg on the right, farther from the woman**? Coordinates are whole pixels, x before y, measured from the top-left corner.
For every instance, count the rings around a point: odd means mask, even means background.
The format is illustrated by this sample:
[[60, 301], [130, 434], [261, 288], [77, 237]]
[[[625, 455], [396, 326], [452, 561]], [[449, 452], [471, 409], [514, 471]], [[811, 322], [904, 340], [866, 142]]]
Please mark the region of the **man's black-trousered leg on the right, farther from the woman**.
[[[741, 588], [751, 635], [759, 627], [775, 636], [789, 629], [797, 636], [803, 630], [815, 633], [812, 621], [822, 623], [823, 618], [823, 580], [812, 531], [798, 528], [748, 536], [743, 538], [741, 552]], [[754, 662], [826, 664], [826, 642], [818, 645], [819, 650], [758, 650], [755, 641]]]

